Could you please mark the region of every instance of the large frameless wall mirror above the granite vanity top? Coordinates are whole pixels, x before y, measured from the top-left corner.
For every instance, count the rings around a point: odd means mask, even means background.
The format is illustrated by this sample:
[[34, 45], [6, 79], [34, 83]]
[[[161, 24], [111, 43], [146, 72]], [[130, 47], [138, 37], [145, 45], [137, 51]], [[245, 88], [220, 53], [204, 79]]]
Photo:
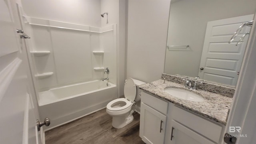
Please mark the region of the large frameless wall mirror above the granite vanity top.
[[[164, 73], [235, 87], [253, 20], [255, 0], [171, 0]], [[187, 46], [188, 45], [188, 46]]]

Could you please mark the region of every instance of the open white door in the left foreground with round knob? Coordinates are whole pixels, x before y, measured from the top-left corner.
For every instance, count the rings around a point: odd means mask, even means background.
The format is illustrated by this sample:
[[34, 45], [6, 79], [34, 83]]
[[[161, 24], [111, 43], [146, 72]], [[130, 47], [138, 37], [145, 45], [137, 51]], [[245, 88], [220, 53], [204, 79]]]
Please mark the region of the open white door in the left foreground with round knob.
[[16, 3], [0, 0], [0, 143], [42, 144], [36, 131], [38, 111], [28, 87], [24, 39]]

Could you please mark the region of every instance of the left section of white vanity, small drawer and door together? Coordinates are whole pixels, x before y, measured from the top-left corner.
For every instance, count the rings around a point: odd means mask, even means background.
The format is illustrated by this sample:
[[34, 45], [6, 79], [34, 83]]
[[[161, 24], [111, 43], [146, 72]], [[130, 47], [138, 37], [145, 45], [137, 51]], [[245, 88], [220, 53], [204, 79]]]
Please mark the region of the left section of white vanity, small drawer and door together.
[[[150, 98], [148, 99], [148, 97]], [[147, 93], [142, 93], [140, 137], [146, 144], [164, 144], [167, 108], [167, 102]]]

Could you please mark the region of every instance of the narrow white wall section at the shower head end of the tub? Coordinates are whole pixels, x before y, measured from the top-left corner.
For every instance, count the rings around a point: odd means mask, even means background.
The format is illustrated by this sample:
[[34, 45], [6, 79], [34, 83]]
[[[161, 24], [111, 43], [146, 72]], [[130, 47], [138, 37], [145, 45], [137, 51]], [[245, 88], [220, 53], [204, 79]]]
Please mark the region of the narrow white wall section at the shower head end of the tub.
[[117, 69], [112, 69], [110, 71], [117, 71], [117, 86], [118, 86], [118, 96], [124, 95], [124, 69], [125, 69], [125, 16], [126, 16], [126, 0], [101, 0], [101, 14], [108, 12], [108, 24], [106, 14], [102, 18], [101, 26], [108, 26], [110, 24], [116, 24], [116, 43], [117, 43]]

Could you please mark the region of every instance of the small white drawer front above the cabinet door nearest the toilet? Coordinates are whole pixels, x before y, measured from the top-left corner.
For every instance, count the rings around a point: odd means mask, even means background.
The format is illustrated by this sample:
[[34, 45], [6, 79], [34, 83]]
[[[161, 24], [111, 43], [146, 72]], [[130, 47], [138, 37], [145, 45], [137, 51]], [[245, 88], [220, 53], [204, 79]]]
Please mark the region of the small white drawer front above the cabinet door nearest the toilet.
[[144, 104], [158, 110], [159, 112], [161, 112], [163, 114], [167, 114], [168, 102], [166, 102], [160, 98], [157, 98], [152, 95], [149, 95], [148, 93], [142, 92], [141, 103], [144, 103]]

